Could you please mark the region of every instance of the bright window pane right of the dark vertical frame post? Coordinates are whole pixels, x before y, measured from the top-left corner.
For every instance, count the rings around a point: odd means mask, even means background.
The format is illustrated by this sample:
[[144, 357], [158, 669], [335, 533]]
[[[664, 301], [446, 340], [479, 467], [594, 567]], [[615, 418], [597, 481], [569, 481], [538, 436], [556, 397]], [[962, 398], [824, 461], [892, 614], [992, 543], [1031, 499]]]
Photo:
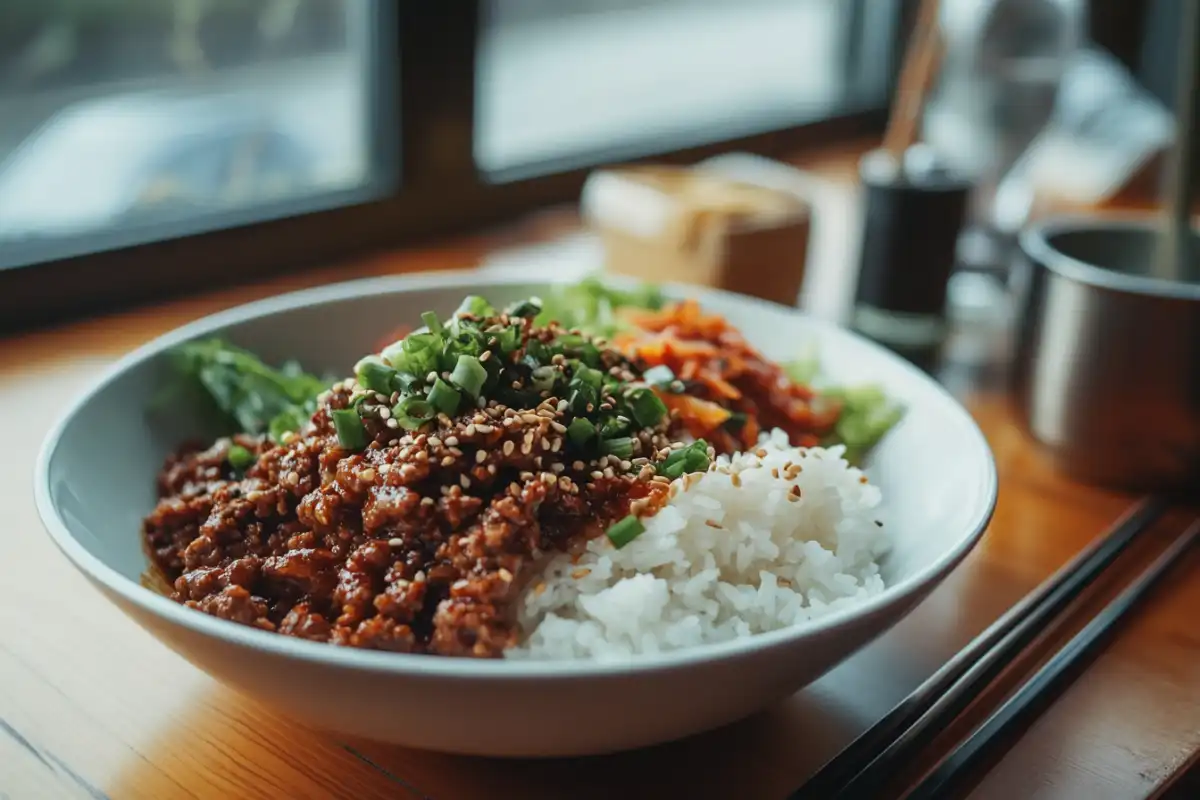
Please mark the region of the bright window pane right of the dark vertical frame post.
[[895, 4], [485, 0], [476, 163], [503, 180], [851, 110], [864, 5]]

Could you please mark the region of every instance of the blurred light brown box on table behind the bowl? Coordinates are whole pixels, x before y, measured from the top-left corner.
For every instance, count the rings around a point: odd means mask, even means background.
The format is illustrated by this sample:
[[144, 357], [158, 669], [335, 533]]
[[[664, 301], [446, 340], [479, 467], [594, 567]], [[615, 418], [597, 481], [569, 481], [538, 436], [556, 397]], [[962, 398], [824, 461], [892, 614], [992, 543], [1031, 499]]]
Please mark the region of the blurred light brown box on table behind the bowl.
[[796, 194], [700, 169], [631, 167], [593, 173], [581, 205], [608, 272], [787, 306], [799, 297], [811, 218]]

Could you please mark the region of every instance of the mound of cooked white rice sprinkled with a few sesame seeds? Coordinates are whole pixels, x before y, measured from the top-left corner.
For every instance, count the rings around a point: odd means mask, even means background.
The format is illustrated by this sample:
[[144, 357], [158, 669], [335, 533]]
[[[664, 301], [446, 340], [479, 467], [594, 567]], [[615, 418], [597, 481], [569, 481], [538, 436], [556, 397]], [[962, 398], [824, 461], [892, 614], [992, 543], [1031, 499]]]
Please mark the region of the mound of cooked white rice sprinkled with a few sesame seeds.
[[791, 447], [775, 431], [755, 452], [677, 480], [673, 500], [625, 547], [601, 536], [574, 563], [550, 561], [520, 606], [529, 634], [509, 657], [623, 660], [773, 631], [878, 594], [880, 491], [844, 450]]

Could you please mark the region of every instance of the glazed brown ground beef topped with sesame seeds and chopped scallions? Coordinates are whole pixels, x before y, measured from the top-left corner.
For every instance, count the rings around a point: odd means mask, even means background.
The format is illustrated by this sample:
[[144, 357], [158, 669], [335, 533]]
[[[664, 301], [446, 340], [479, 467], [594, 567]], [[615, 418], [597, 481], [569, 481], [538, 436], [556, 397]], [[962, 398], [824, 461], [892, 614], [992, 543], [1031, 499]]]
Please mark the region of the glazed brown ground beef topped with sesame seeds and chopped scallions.
[[486, 383], [460, 386], [452, 414], [430, 401], [446, 408], [467, 373], [414, 385], [390, 366], [404, 356], [376, 357], [278, 443], [168, 459], [143, 533], [172, 597], [317, 642], [494, 657], [518, 640], [515, 603], [546, 554], [666, 501], [670, 417], [644, 411], [635, 365], [522, 317], [466, 313], [456, 330], [479, 339], [467, 366]]

